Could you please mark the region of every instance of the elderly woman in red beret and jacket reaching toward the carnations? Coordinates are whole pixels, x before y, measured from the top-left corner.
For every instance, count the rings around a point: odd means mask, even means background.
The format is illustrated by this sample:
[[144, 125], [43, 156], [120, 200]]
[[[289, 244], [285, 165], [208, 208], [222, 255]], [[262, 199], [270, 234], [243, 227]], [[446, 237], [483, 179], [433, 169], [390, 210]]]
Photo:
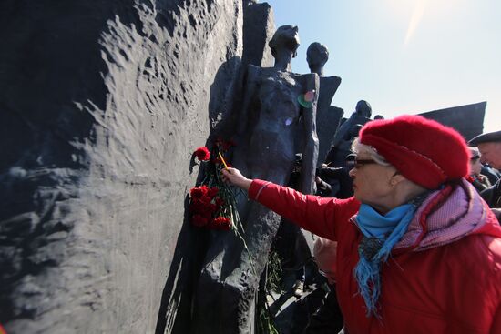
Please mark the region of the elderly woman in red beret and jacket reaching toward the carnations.
[[353, 145], [354, 196], [305, 196], [223, 171], [251, 199], [338, 242], [347, 332], [501, 333], [501, 228], [465, 180], [455, 130], [421, 116], [373, 121]]

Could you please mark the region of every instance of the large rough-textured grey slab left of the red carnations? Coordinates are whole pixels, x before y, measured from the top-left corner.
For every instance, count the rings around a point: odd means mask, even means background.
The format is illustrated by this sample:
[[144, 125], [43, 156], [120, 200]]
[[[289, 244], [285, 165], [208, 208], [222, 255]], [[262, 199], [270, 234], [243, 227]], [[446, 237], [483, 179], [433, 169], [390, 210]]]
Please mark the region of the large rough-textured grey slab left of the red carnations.
[[8, 333], [163, 330], [190, 155], [230, 104], [241, 31], [240, 1], [0, 4]]

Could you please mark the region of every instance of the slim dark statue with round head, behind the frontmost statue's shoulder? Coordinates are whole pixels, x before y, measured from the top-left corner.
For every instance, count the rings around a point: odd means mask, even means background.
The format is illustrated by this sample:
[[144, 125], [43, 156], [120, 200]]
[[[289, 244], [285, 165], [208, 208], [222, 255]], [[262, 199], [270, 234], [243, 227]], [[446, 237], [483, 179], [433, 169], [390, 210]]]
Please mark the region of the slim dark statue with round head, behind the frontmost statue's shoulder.
[[318, 42], [313, 42], [306, 50], [306, 61], [311, 73], [320, 76], [320, 93], [317, 106], [317, 136], [319, 138], [319, 155], [317, 166], [320, 166], [331, 148], [343, 109], [331, 106], [332, 97], [341, 85], [339, 76], [323, 76], [323, 66], [329, 60], [329, 50]]

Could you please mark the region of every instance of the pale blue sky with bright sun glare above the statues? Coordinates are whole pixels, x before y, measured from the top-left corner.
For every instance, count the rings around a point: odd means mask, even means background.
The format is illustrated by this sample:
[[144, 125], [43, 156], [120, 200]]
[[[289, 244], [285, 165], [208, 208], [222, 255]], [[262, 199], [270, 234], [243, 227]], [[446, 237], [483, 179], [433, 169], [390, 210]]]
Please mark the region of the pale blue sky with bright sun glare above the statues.
[[360, 99], [386, 117], [487, 101], [485, 131], [501, 130], [501, 0], [267, 2], [277, 27], [299, 26], [293, 72], [312, 42], [329, 48], [345, 116]]

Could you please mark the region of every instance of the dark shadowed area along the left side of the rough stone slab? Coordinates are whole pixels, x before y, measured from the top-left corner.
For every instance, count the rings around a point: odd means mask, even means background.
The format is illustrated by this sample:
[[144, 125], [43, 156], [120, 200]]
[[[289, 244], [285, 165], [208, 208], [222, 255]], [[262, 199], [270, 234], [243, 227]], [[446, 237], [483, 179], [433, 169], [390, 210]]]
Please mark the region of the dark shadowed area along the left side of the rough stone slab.
[[[87, 176], [96, 120], [106, 109], [100, 38], [109, 21], [141, 27], [135, 2], [70, 3], [5, 0], [0, 3], [0, 322], [33, 319], [40, 305], [23, 278], [58, 266], [71, 232], [54, 219], [57, 202], [77, 197]], [[91, 104], [88, 103], [91, 101]], [[56, 220], [56, 221], [55, 221]], [[50, 238], [50, 239], [49, 239]], [[46, 245], [56, 251], [41, 250]], [[42, 279], [43, 280], [43, 279]], [[29, 289], [29, 288], [28, 288]], [[50, 294], [37, 291], [33, 294]]]

